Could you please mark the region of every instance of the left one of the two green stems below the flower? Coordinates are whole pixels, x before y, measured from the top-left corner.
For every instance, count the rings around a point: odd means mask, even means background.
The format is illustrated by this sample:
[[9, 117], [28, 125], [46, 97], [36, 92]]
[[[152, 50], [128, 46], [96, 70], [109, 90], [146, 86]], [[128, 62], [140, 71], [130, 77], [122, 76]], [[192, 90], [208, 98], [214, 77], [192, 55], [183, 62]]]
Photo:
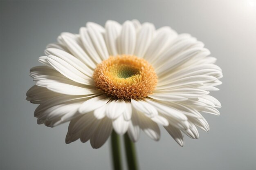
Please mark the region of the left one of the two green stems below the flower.
[[113, 130], [111, 134], [112, 160], [114, 170], [122, 170], [120, 137]]

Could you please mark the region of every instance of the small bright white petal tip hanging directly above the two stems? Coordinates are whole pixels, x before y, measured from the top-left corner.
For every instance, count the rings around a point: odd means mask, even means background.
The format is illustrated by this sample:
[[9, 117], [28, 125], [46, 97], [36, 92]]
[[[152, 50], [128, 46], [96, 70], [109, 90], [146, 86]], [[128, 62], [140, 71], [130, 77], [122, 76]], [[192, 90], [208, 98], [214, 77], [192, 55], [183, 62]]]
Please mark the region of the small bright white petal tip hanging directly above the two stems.
[[129, 121], [126, 121], [123, 115], [120, 115], [117, 119], [112, 122], [113, 128], [119, 135], [124, 135], [128, 130]]

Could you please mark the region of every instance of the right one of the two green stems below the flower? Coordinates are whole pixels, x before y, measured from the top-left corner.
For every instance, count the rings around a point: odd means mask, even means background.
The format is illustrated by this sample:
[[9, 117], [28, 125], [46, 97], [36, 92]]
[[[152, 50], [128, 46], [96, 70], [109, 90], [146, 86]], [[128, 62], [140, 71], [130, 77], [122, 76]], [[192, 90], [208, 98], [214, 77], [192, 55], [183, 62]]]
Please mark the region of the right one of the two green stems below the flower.
[[129, 170], [138, 170], [136, 149], [134, 143], [130, 140], [128, 134], [124, 135], [124, 144], [126, 150], [126, 160]]

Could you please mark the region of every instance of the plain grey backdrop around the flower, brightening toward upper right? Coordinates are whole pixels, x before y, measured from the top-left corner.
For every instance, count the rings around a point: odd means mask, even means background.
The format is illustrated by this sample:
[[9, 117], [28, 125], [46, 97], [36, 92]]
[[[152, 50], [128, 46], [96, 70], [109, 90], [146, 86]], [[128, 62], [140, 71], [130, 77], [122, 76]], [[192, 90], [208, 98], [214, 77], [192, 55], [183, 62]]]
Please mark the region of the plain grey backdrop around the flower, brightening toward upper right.
[[254, 1], [0, 1], [1, 169], [111, 169], [109, 141], [65, 144], [68, 124], [36, 124], [36, 105], [25, 101], [34, 82], [29, 68], [45, 46], [85, 22], [104, 25], [137, 18], [157, 28], [172, 26], [206, 44], [223, 69], [220, 116], [204, 114], [211, 130], [178, 146], [162, 129], [160, 141], [142, 134], [141, 169], [256, 169], [256, 2]]

